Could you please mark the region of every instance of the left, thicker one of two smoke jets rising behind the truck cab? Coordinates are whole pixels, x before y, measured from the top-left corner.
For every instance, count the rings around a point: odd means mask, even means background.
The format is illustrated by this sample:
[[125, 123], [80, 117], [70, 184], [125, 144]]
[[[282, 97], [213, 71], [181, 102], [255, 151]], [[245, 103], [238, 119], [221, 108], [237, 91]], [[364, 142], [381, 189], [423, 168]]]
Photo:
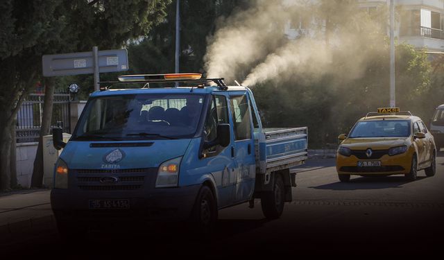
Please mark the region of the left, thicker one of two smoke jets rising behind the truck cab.
[[244, 12], [219, 21], [223, 26], [208, 40], [207, 76], [234, 79], [237, 71], [262, 60], [282, 39], [286, 16], [282, 5], [275, 0], [262, 0]]

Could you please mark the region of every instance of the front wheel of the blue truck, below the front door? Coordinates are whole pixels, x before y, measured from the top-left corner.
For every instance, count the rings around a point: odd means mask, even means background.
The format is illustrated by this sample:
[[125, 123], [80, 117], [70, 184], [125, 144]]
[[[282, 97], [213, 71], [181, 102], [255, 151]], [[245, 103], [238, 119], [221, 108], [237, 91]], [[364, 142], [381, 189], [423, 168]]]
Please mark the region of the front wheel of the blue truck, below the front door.
[[194, 205], [192, 221], [199, 232], [210, 232], [217, 220], [217, 204], [210, 187], [203, 186]]

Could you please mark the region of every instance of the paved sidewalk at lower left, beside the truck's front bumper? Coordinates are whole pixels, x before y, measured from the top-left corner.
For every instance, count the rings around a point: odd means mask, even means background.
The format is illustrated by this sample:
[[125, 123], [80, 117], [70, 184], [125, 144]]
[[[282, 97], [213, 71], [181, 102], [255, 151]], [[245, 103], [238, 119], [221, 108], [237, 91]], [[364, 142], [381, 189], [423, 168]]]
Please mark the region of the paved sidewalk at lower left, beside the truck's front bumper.
[[24, 229], [53, 225], [49, 200], [51, 191], [29, 190], [0, 195], [0, 236], [15, 234]]

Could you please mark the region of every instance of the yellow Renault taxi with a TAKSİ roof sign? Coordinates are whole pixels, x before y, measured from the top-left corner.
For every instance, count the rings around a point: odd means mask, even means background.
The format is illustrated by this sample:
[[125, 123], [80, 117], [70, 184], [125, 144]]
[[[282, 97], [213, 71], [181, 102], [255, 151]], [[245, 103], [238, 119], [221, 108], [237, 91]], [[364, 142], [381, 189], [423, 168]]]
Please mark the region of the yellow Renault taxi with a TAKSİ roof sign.
[[436, 173], [434, 137], [418, 116], [382, 107], [359, 119], [349, 134], [339, 135], [336, 171], [341, 182], [350, 175], [404, 174], [416, 180], [418, 171]]

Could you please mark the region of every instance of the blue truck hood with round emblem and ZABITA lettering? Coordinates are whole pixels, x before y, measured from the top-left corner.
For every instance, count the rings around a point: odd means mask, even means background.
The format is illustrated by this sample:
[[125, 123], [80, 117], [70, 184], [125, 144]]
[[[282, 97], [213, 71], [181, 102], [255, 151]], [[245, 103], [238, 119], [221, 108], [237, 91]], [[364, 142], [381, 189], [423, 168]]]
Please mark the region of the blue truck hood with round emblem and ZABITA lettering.
[[[73, 169], [157, 168], [168, 159], [184, 155], [190, 141], [69, 141], [60, 158]], [[138, 146], [141, 143], [145, 146]]]

